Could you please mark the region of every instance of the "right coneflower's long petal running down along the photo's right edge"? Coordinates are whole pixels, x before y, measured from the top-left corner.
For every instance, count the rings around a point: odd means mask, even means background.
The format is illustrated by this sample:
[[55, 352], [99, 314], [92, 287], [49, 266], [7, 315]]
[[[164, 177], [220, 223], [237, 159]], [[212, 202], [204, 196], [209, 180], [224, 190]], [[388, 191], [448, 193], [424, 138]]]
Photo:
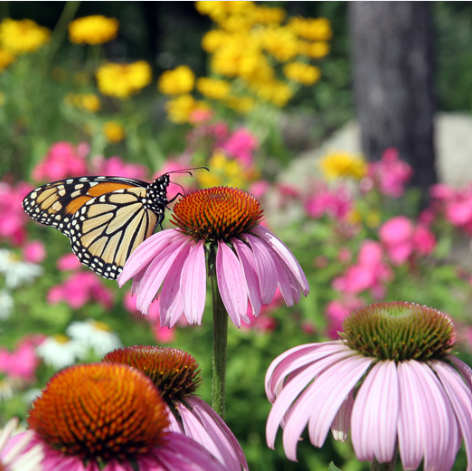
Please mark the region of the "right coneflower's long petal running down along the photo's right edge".
[[456, 420], [462, 434], [467, 453], [467, 469], [472, 471], [472, 392], [466, 386], [461, 375], [445, 362], [432, 360], [429, 362], [441, 381], [451, 401]]

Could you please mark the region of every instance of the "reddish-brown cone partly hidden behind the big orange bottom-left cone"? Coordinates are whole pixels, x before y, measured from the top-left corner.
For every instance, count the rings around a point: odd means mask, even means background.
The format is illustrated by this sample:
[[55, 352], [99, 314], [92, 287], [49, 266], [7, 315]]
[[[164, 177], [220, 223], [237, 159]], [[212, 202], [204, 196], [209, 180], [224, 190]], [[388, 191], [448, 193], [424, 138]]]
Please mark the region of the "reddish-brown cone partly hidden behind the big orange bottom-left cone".
[[122, 363], [141, 371], [151, 379], [167, 404], [181, 402], [186, 396], [195, 393], [201, 381], [195, 358], [177, 348], [119, 348], [107, 353], [102, 361]]

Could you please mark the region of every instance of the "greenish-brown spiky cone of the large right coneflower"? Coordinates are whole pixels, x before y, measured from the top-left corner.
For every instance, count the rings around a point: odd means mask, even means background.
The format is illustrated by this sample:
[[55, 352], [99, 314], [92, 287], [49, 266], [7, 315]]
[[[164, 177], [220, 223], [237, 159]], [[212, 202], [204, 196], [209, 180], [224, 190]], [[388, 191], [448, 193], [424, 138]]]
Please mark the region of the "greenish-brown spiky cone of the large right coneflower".
[[353, 350], [379, 360], [443, 359], [454, 347], [455, 327], [443, 312], [408, 302], [355, 309], [341, 337]]

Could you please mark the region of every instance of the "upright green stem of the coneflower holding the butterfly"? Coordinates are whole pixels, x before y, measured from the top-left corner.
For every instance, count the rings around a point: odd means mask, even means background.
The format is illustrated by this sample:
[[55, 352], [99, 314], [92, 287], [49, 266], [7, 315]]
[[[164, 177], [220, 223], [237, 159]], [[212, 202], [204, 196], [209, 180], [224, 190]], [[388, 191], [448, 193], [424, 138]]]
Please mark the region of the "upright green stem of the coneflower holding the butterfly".
[[226, 353], [228, 346], [228, 313], [221, 299], [216, 279], [216, 253], [213, 247], [209, 253], [209, 273], [213, 298], [213, 379], [212, 406], [224, 420], [226, 413]]

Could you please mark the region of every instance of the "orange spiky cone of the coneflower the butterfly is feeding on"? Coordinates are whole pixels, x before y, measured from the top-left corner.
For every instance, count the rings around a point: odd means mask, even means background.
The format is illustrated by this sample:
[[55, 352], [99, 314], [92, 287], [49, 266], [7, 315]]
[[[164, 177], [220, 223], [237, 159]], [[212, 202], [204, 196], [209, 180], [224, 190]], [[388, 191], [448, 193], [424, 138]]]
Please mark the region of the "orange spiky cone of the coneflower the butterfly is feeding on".
[[249, 232], [263, 218], [259, 201], [237, 188], [215, 187], [184, 196], [171, 223], [196, 240], [228, 241]]

